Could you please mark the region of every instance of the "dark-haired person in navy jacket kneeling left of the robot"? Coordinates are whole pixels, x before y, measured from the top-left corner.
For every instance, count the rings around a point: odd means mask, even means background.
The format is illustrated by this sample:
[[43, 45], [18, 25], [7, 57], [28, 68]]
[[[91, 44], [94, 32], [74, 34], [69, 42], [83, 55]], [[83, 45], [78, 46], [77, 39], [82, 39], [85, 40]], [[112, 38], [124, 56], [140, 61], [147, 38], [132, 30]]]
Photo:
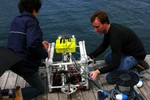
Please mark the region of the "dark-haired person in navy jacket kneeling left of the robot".
[[23, 59], [11, 66], [10, 70], [31, 85], [22, 89], [23, 99], [30, 100], [45, 91], [38, 68], [41, 59], [48, 57], [44, 49], [48, 42], [43, 42], [43, 33], [36, 19], [41, 0], [20, 0], [18, 7], [21, 14], [12, 21], [7, 47]]

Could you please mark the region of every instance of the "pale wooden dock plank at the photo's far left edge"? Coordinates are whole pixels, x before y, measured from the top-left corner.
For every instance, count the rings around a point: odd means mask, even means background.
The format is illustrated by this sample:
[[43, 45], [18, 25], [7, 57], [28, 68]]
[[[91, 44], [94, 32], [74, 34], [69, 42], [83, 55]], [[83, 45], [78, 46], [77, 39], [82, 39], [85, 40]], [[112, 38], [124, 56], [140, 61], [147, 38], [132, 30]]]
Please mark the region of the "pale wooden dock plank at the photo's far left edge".
[[0, 87], [1, 89], [5, 88], [8, 76], [9, 76], [9, 71], [6, 71], [1, 77], [0, 77]]

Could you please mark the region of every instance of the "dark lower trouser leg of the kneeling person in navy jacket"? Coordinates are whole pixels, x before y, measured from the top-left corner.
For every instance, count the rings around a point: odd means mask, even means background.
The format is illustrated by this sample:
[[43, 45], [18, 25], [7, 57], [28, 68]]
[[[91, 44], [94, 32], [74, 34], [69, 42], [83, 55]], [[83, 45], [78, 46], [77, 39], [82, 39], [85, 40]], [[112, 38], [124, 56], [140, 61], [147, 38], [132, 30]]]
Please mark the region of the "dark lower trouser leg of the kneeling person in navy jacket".
[[22, 88], [23, 100], [31, 100], [32, 98], [45, 92], [43, 83], [39, 77], [38, 72], [34, 73], [32, 76], [26, 78], [23, 77], [31, 87]]

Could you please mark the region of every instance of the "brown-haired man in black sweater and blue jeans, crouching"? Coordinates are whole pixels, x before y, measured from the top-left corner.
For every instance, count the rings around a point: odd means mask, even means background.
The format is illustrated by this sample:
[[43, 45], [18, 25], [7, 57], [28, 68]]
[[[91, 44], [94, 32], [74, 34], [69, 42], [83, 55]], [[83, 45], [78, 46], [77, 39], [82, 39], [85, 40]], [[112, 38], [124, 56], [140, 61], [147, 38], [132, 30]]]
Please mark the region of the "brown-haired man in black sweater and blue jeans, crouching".
[[[106, 54], [104, 58], [107, 65], [91, 72], [93, 79], [96, 79], [99, 74], [114, 70], [129, 70], [145, 59], [144, 46], [131, 29], [116, 23], [110, 24], [104, 11], [95, 12], [91, 17], [91, 22], [96, 32], [100, 35], [104, 34], [104, 39], [99, 47], [89, 54], [89, 57], [95, 58], [103, 53], [108, 46], [111, 48], [111, 52]], [[111, 83], [110, 74], [106, 77], [109, 83]]]

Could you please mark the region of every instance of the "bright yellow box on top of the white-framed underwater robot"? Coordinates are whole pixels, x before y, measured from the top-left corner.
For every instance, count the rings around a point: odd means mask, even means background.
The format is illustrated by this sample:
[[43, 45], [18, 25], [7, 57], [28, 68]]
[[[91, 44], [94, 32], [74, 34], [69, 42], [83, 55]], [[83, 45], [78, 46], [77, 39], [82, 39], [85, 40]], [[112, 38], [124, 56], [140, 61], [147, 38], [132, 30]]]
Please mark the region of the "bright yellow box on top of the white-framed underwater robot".
[[63, 39], [58, 37], [55, 45], [56, 53], [73, 53], [76, 52], [76, 39], [74, 37]]

